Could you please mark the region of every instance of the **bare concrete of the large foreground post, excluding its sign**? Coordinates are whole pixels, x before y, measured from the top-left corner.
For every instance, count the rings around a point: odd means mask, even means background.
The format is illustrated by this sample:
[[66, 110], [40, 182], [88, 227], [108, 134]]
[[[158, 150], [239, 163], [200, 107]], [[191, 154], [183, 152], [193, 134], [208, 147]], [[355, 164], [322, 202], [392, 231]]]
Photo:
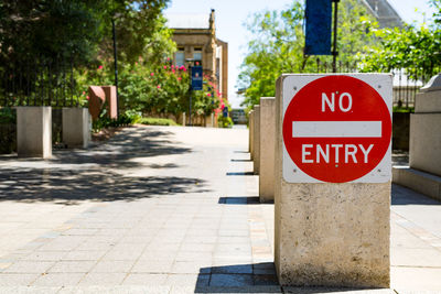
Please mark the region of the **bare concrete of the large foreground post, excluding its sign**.
[[275, 263], [281, 285], [389, 287], [390, 182], [288, 183], [276, 90]]

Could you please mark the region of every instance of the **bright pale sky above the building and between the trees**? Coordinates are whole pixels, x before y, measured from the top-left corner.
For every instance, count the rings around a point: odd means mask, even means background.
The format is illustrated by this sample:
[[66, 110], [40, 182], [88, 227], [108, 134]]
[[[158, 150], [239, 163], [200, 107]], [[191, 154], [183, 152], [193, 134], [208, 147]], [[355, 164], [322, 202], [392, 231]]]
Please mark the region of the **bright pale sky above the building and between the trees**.
[[[216, 36], [228, 43], [228, 100], [233, 108], [239, 107], [241, 98], [237, 97], [237, 77], [239, 66], [245, 57], [250, 34], [244, 23], [252, 14], [262, 10], [281, 10], [292, 0], [171, 0], [164, 13], [168, 14], [209, 14], [215, 9]], [[432, 10], [426, 0], [389, 0], [405, 22], [422, 23]]]

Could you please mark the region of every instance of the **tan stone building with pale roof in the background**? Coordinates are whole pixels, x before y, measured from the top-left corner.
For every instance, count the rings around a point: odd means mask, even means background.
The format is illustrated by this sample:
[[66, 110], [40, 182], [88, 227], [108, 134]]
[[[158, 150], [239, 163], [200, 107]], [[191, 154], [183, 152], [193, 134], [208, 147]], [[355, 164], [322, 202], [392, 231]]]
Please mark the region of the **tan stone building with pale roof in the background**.
[[173, 29], [178, 45], [174, 64], [202, 64], [204, 74], [212, 77], [223, 98], [228, 99], [228, 43], [216, 37], [214, 9], [209, 14], [169, 14], [168, 26]]

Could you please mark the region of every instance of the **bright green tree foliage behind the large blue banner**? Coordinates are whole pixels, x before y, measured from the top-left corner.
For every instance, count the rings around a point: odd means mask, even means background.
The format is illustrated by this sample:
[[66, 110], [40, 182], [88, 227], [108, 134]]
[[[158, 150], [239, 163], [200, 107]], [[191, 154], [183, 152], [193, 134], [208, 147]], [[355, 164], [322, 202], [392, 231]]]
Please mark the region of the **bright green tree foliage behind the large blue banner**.
[[[305, 56], [303, 1], [295, 0], [282, 11], [263, 11], [254, 15], [247, 29], [252, 34], [241, 64], [239, 88], [246, 88], [244, 105], [257, 105], [260, 97], [276, 94], [276, 79], [282, 73], [316, 73], [316, 61]], [[373, 18], [357, 0], [342, 0], [338, 6], [338, 61], [354, 61], [357, 52], [374, 42], [368, 34]], [[330, 62], [332, 57], [321, 58]]]

